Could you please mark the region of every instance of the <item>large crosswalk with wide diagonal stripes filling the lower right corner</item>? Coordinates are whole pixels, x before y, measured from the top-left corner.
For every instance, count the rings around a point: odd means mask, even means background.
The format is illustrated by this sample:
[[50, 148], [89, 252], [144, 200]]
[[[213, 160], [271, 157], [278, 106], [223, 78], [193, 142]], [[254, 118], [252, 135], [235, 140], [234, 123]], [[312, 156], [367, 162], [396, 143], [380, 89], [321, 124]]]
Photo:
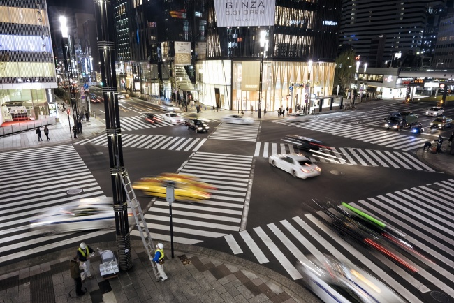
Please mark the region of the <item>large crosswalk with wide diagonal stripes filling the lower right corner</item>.
[[409, 302], [423, 302], [422, 297], [432, 292], [454, 297], [453, 199], [454, 180], [448, 179], [351, 203], [406, 234], [404, 239], [432, 258], [434, 262], [418, 254], [411, 260], [404, 256], [418, 269], [413, 275], [376, 251], [361, 253], [324, 223], [323, 212], [234, 232], [224, 236], [224, 243], [226, 252], [279, 267], [281, 274], [292, 279], [301, 277], [294, 267], [298, 260], [305, 260], [307, 254], [328, 253], [367, 268]]

